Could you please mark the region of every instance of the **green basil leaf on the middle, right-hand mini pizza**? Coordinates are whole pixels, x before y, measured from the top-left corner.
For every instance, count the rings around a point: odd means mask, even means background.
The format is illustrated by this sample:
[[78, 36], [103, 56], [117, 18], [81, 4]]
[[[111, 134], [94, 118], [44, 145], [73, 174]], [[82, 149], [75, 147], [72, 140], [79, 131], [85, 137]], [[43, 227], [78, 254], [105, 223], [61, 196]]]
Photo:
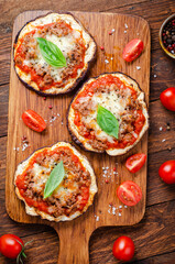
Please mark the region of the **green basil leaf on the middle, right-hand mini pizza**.
[[118, 139], [119, 122], [116, 117], [106, 108], [98, 105], [97, 123], [107, 134]]

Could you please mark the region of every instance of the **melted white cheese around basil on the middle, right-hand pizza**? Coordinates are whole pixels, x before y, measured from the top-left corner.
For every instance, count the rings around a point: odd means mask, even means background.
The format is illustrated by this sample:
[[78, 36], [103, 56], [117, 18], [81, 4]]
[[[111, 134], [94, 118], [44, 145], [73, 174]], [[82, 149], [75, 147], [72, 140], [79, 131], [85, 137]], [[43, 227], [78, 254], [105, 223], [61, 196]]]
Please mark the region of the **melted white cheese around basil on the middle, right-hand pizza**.
[[[95, 131], [97, 139], [107, 140], [108, 142], [113, 143], [114, 138], [103, 132], [97, 123], [98, 105], [109, 110], [116, 117], [116, 119], [118, 119], [120, 125], [120, 117], [127, 107], [130, 96], [131, 92], [129, 89], [125, 89], [125, 97], [123, 98], [113, 90], [109, 94], [95, 94], [91, 98], [91, 105], [95, 107], [96, 110], [91, 111], [89, 116], [83, 117], [83, 122], [87, 128]], [[84, 101], [85, 99], [83, 98], [81, 100]]]

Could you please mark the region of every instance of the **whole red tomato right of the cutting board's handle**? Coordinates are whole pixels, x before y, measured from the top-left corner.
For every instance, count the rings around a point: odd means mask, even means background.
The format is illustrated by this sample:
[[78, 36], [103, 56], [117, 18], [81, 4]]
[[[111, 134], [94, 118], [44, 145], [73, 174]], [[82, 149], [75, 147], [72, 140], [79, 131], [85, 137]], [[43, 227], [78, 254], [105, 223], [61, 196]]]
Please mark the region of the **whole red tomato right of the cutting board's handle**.
[[113, 243], [112, 253], [119, 261], [131, 261], [134, 255], [134, 243], [129, 237], [122, 235]]

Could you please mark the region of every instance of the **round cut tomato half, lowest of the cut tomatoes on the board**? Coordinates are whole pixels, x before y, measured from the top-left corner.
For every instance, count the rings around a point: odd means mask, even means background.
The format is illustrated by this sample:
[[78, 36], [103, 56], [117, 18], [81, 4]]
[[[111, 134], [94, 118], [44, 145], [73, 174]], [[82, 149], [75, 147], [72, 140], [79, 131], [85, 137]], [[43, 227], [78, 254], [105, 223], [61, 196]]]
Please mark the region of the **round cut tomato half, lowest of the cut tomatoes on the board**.
[[119, 186], [117, 195], [124, 205], [135, 206], [142, 198], [142, 190], [132, 180], [127, 180]]

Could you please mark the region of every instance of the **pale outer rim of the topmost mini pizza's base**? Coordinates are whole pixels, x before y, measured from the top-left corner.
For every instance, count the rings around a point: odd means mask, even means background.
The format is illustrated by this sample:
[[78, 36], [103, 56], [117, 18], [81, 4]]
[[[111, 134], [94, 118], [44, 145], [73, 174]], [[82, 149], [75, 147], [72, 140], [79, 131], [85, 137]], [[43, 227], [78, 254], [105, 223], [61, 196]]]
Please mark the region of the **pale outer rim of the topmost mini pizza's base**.
[[85, 53], [85, 64], [81, 69], [78, 69], [77, 77], [70, 78], [70, 80], [68, 81], [68, 84], [65, 87], [56, 88], [53, 86], [47, 90], [39, 89], [37, 85], [31, 80], [30, 74], [25, 74], [14, 64], [14, 69], [17, 72], [19, 79], [22, 81], [22, 84], [26, 88], [34, 90], [35, 92], [37, 92], [41, 96], [64, 95], [64, 94], [72, 91], [73, 89], [75, 89], [77, 87], [77, 85], [79, 84], [79, 81], [85, 77], [92, 61], [96, 58], [97, 45], [96, 45], [94, 37], [85, 30], [83, 24], [73, 14], [70, 14], [68, 12], [67, 13], [51, 13], [50, 12], [46, 15], [42, 15], [42, 16], [36, 18], [35, 20], [29, 21], [21, 29], [21, 31], [18, 33], [18, 35], [15, 37], [15, 41], [14, 41], [15, 48], [13, 51], [13, 55], [15, 56], [17, 48], [20, 44], [19, 40], [21, 37], [23, 37], [23, 35], [25, 35], [28, 32], [31, 32], [34, 29], [34, 26], [36, 26], [36, 25], [48, 24], [48, 23], [55, 22], [57, 19], [64, 20], [65, 22], [69, 23], [73, 29], [83, 32], [83, 38], [84, 38], [85, 45], [87, 47], [86, 53]]

